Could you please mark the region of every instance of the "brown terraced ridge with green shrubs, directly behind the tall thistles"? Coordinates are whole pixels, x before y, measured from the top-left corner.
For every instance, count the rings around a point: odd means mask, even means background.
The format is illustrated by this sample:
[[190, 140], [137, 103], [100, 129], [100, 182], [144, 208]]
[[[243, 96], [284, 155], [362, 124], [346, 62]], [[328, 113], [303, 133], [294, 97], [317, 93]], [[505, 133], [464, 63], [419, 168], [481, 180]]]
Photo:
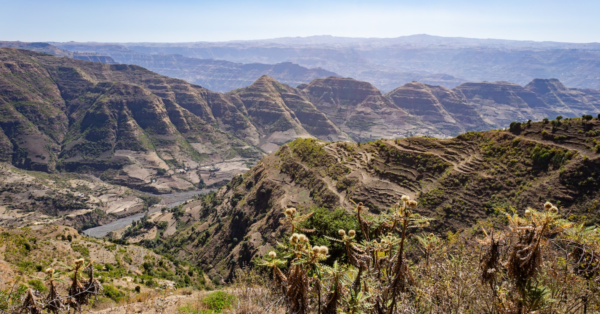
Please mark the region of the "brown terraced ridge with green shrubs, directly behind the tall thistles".
[[215, 195], [165, 214], [177, 226], [173, 235], [143, 243], [230, 276], [281, 240], [288, 231], [280, 222], [286, 207], [307, 213], [363, 202], [379, 213], [409, 195], [418, 200], [419, 213], [435, 219], [430, 228], [443, 232], [494, 219], [496, 207], [523, 210], [550, 200], [565, 213], [597, 222], [600, 121], [520, 127], [452, 139], [298, 139]]

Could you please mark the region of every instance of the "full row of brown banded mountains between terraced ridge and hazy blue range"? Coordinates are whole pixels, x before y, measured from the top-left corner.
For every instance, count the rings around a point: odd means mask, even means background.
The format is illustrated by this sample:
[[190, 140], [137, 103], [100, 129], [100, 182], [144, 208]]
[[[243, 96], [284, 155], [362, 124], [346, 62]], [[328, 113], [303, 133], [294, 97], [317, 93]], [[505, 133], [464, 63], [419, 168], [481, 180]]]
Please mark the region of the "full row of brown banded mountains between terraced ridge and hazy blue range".
[[262, 76], [223, 94], [137, 65], [11, 48], [0, 49], [0, 62], [3, 161], [38, 171], [92, 171], [154, 192], [217, 183], [208, 171], [187, 169], [257, 160], [298, 137], [451, 137], [600, 112], [598, 91], [566, 88], [556, 79], [453, 89], [412, 82], [383, 94], [355, 79], [314, 79], [293, 88]]

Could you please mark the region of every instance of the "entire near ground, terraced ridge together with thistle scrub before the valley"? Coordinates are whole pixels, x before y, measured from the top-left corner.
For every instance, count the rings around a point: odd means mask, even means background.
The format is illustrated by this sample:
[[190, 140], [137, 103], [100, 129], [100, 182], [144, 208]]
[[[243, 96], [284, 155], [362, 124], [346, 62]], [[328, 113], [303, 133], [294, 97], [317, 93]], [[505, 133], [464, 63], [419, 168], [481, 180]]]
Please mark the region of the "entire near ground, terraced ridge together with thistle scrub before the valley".
[[[295, 140], [163, 213], [175, 233], [141, 246], [127, 235], [157, 223], [111, 241], [61, 226], [5, 229], [0, 306], [597, 313], [598, 126], [590, 116], [448, 140]], [[169, 297], [177, 291], [188, 295]]]

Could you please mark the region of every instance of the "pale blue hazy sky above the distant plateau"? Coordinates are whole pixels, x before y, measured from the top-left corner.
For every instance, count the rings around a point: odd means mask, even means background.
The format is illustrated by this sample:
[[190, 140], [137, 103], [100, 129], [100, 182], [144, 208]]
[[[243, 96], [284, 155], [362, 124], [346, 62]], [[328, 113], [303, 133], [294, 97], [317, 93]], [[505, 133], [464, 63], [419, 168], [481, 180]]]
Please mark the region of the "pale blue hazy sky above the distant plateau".
[[0, 40], [227, 41], [334, 35], [600, 42], [600, 1], [0, 0]]

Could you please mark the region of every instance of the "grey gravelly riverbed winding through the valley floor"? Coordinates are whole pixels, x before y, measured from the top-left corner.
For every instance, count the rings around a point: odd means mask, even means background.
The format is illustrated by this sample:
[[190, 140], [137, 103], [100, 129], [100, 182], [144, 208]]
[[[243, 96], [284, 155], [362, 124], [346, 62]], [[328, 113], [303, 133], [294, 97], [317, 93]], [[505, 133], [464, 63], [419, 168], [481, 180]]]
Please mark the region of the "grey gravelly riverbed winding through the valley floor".
[[[210, 190], [196, 190], [196, 191], [187, 191], [187, 192], [178, 192], [178, 193], [169, 193], [169, 194], [160, 194], [156, 195], [159, 198], [163, 199], [163, 203], [167, 204], [166, 207], [173, 208], [188, 199], [196, 198], [196, 196], [206, 194], [208, 192], [216, 191], [217, 189]], [[107, 223], [106, 225], [97, 226], [94, 228], [85, 229], [83, 231], [84, 234], [89, 235], [90, 237], [104, 237], [104, 235], [108, 234], [111, 231], [115, 231], [116, 229], [121, 229], [127, 225], [130, 225], [134, 220], [139, 220], [144, 217], [145, 214], [152, 214], [160, 211], [160, 208], [154, 207], [152, 211], [147, 211], [146, 213], [137, 214], [134, 216], [127, 216], [121, 219], [118, 219], [112, 223]]]

